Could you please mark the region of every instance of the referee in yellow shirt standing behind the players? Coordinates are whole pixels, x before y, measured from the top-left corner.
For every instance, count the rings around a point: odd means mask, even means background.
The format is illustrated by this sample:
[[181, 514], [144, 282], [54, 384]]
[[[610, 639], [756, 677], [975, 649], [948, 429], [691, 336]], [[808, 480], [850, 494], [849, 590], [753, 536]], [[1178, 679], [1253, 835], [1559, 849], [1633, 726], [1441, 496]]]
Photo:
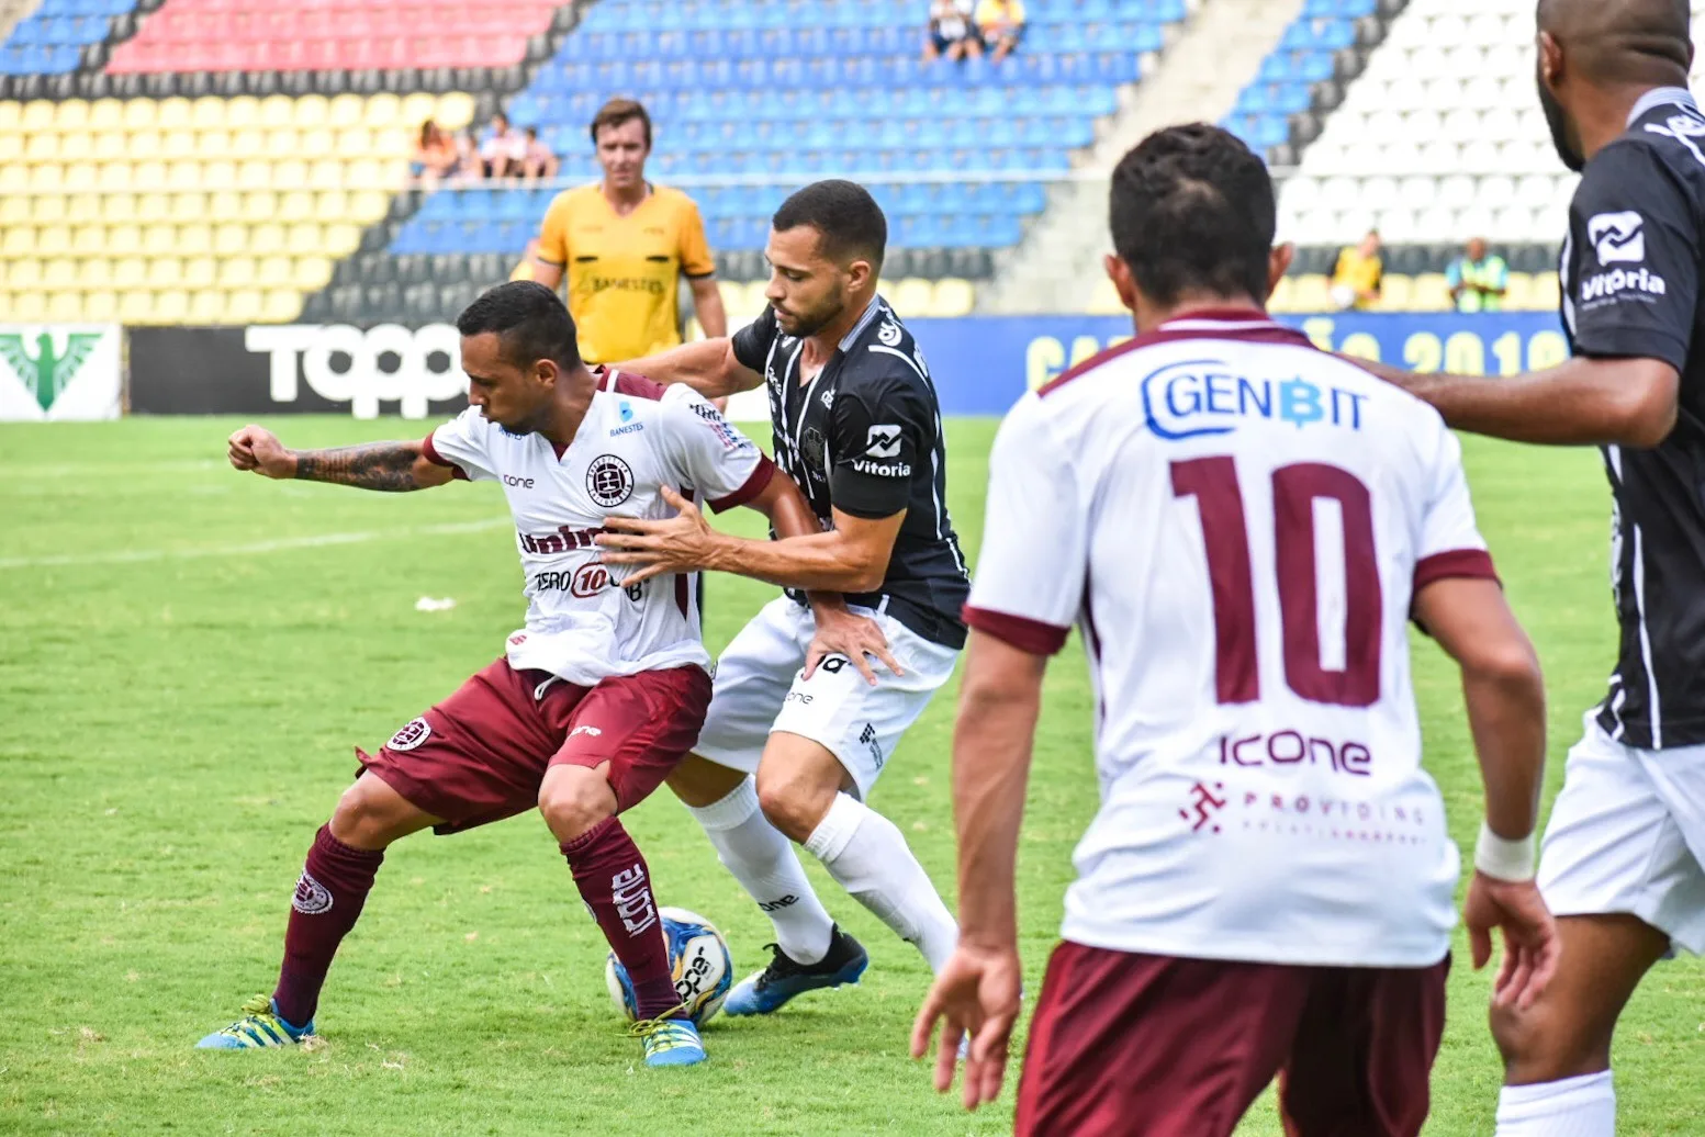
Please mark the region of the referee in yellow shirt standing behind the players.
[[651, 116], [633, 99], [610, 99], [592, 119], [592, 143], [604, 181], [556, 196], [530, 263], [532, 280], [546, 288], [556, 288], [568, 271], [580, 356], [614, 363], [677, 346], [680, 276], [692, 286], [704, 334], [726, 336], [728, 314], [699, 206], [679, 189], [644, 179]]

